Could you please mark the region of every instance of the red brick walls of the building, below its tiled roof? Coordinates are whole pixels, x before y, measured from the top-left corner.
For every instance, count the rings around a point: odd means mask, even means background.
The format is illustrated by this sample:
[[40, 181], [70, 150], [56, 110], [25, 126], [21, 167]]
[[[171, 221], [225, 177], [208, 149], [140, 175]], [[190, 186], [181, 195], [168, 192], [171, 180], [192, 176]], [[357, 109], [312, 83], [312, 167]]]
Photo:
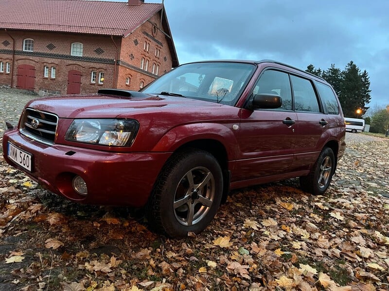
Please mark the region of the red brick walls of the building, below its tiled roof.
[[[159, 14], [152, 16], [150, 21], [159, 26]], [[138, 91], [141, 81], [146, 85], [157, 77], [152, 73], [153, 64], [155, 69], [159, 65], [159, 76], [172, 66], [166, 36], [158, 30], [153, 31], [153, 25], [148, 21], [125, 38], [113, 37], [118, 50], [110, 36], [33, 31], [8, 33], [15, 39], [15, 55], [12, 59], [13, 39], [0, 31], [0, 62], [4, 66], [3, 72], [0, 72], [0, 86], [11, 86], [12, 79], [13, 88], [22, 88], [24, 79], [29, 78], [33, 81], [30, 90], [41, 95], [66, 94], [69, 72], [74, 70], [81, 75], [80, 92], [95, 93], [100, 88]], [[23, 39], [26, 38], [34, 40], [33, 52], [23, 51]], [[148, 52], [144, 50], [145, 41], [149, 44]], [[71, 44], [75, 42], [83, 44], [82, 57], [71, 56]], [[159, 58], [155, 55], [156, 48], [159, 49]], [[140, 68], [142, 57], [149, 62], [147, 71]], [[6, 63], [10, 64], [10, 73], [6, 73]], [[34, 70], [28, 71], [34, 76], [18, 76], [24, 72], [21, 66], [25, 65], [34, 67]], [[44, 75], [45, 66], [48, 67], [47, 77]], [[52, 68], [55, 68], [55, 78], [51, 78]], [[91, 82], [92, 71], [96, 72], [94, 83]], [[100, 72], [104, 73], [103, 84], [98, 82]], [[127, 77], [130, 78], [129, 84], [126, 84]]]

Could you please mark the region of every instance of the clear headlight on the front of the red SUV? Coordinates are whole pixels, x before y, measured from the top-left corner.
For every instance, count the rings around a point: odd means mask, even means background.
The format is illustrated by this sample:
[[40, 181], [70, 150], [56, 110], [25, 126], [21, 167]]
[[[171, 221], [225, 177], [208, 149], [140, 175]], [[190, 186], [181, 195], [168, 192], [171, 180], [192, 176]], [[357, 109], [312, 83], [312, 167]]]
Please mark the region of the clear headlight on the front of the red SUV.
[[65, 139], [102, 146], [131, 146], [138, 128], [134, 119], [75, 119]]

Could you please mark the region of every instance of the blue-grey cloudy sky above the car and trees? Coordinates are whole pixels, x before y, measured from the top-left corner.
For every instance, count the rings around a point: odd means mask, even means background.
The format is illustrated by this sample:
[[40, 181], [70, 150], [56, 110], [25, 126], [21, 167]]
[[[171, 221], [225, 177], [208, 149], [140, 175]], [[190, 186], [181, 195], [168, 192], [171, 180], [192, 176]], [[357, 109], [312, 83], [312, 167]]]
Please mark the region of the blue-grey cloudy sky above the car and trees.
[[[123, 0], [122, 0], [123, 1]], [[161, 0], [146, 0], [161, 2]], [[388, 0], [164, 0], [180, 64], [273, 59], [344, 69], [371, 81], [371, 107], [389, 104]]]

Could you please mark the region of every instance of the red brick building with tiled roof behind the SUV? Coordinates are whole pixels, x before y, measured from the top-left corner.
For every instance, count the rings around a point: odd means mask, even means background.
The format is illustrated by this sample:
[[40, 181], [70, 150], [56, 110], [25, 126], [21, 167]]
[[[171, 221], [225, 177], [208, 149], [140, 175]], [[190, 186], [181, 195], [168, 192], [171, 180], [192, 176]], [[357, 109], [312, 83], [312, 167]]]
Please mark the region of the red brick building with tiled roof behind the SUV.
[[0, 0], [0, 87], [138, 91], [178, 65], [163, 4]]

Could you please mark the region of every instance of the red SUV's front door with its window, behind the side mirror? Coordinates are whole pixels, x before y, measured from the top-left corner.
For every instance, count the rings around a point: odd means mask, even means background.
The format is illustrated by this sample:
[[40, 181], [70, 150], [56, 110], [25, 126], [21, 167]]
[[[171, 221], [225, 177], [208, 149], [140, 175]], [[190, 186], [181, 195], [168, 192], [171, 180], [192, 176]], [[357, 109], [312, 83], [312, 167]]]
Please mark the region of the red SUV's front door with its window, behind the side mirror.
[[297, 114], [287, 73], [268, 69], [259, 77], [252, 94], [282, 97], [281, 108], [242, 109], [237, 161], [232, 182], [288, 172], [293, 162]]

